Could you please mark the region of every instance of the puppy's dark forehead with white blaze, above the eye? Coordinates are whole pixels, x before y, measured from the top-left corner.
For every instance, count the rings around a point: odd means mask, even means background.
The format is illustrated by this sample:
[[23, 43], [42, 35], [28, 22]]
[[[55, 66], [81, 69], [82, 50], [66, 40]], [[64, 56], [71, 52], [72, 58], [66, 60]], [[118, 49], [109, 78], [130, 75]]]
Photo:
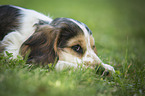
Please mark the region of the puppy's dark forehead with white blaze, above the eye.
[[63, 48], [67, 46], [69, 40], [76, 37], [80, 38], [79, 36], [81, 36], [84, 38], [84, 42], [86, 42], [87, 49], [91, 48], [90, 37], [92, 32], [84, 23], [71, 18], [56, 18], [50, 25], [56, 29], [58, 28], [61, 32], [58, 41], [59, 47]]

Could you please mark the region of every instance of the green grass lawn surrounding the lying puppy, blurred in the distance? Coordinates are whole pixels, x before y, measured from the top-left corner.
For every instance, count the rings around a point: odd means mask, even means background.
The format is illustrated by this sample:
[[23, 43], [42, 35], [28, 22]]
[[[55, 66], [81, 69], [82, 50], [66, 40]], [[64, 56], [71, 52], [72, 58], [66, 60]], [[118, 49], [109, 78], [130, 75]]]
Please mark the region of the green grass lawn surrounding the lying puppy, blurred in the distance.
[[0, 57], [0, 96], [143, 96], [145, 95], [144, 0], [1, 0], [34, 9], [53, 18], [68, 17], [92, 30], [98, 56], [116, 74], [101, 77], [95, 70], [28, 65]]

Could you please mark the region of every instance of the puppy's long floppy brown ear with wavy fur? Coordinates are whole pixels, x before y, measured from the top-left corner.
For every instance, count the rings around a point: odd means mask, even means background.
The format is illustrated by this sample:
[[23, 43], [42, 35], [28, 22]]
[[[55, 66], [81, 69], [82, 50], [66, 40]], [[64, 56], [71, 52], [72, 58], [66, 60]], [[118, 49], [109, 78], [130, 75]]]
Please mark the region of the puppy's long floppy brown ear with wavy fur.
[[54, 63], [58, 59], [57, 38], [59, 32], [50, 25], [37, 25], [35, 33], [21, 46], [20, 53], [28, 62]]

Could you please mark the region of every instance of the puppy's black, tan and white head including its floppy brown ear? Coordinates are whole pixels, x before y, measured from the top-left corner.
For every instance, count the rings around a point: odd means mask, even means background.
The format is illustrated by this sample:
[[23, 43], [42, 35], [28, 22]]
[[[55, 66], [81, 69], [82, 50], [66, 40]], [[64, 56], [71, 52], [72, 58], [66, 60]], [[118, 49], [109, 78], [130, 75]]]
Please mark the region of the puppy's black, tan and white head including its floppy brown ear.
[[23, 57], [41, 64], [66, 61], [95, 67], [98, 58], [91, 30], [77, 20], [56, 18], [50, 24], [36, 24], [35, 33], [21, 46]]

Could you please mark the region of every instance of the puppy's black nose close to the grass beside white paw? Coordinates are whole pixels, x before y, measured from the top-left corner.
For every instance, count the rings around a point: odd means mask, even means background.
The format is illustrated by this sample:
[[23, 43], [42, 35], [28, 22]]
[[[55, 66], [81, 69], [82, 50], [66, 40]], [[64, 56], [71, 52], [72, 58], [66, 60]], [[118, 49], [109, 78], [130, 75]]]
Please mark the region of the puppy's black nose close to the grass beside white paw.
[[105, 70], [104, 67], [102, 67], [101, 65], [96, 67], [96, 73], [102, 76], [109, 76], [110, 72], [108, 70]]

